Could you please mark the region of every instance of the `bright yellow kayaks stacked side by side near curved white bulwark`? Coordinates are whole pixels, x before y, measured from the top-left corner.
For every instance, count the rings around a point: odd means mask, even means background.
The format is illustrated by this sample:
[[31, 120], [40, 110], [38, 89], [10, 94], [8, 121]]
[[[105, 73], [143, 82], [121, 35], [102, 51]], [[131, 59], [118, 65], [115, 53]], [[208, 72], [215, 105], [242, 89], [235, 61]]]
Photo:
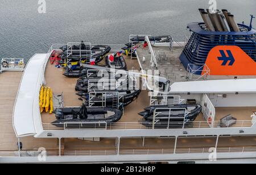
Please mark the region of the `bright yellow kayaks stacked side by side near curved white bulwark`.
[[52, 90], [49, 87], [41, 87], [39, 95], [39, 106], [40, 113], [45, 111], [46, 113], [52, 114], [53, 112], [53, 101], [52, 101]]

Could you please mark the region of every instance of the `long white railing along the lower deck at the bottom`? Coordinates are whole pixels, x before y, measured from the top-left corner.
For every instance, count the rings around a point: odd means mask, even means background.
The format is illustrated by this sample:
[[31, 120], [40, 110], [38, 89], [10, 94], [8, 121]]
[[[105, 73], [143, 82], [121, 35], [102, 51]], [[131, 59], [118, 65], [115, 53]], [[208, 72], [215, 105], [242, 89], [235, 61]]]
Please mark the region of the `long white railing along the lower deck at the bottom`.
[[[109, 156], [109, 155], [184, 155], [216, 153], [254, 153], [255, 146], [247, 147], [195, 147], [195, 148], [134, 148], [134, 149], [88, 149], [88, 150], [48, 150], [48, 151], [0, 151], [0, 157], [38, 157], [38, 156]], [[119, 152], [119, 154], [118, 154]]]

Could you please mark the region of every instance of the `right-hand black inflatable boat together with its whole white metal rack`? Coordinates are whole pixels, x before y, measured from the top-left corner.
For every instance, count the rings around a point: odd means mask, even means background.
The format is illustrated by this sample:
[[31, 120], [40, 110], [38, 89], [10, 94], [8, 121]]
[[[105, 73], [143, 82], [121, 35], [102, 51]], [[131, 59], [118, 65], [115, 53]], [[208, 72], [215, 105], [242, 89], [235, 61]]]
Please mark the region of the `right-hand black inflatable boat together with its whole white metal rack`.
[[[171, 109], [171, 110], [170, 110]], [[186, 109], [186, 111], [184, 110]], [[155, 120], [154, 111], [156, 110]], [[139, 113], [144, 119], [145, 126], [152, 126], [154, 122], [155, 127], [165, 127], [168, 122], [169, 126], [177, 123], [183, 124], [185, 122], [194, 121], [199, 113], [201, 113], [201, 105], [166, 105], [166, 106], [150, 106]], [[185, 115], [187, 113], [187, 115]], [[153, 121], [154, 120], [154, 121]]]

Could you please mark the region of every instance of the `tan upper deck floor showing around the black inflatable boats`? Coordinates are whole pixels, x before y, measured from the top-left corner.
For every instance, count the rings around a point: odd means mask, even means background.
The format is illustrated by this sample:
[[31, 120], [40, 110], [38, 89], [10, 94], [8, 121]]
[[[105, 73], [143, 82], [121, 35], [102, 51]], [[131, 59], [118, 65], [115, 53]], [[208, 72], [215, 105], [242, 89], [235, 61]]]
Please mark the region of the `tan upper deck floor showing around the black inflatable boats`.
[[[138, 52], [139, 54], [139, 52]], [[175, 61], [177, 62], [177, 58]], [[139, 63], [137, 59], [130, 59], [130, 57], [126, 57], [126, 63], [128, 70], [132, 70], [134, 68], [135, 70], [139, 70]], [[165, 68], [166, 70], [169, 70]], [[181, 69], [181, 67], [180, 67]], [[184, 69], [184, 68], [183, 68]], [[179, 70], [175, 70], [177, 72]], [[182, 72], [185, 72], [183, 70]], [[53, 90], [53, 94], [64, 94], [64, 106], [65, 107], [71, 107], [71, 106], [81, 106], [82, 101], [80, 101], [78, 98], [79, 96], [76, 95], [75, 86], [77, 78], [68, 78], [63, 76], [64, 70], [63, 69], [57, 69], [54, 65], [51, 65], [50, 62], [47, 63], [46, 66], [46, 86], [51, 87]], [[183, 73], [185, 76], [185, 73]], [[185, 78], [185, 77], [181, 77]], [[187, 81], [184, 79], [184, 81]], [[142, 121], [142, 117], [138, 115], [145, 107], [150, 106], [150, 97], [148, 95], [148, 91], [142, 90], [142, 93], [139, 95], [138, 99], [136, 99], [133, 103], [125, 107], [125, 113], [122, 116], [121, 120], [118, 121], [118, 123], [130, 123], [134, 122], [139, 124], [139, 122]], [[226, 115], [232, 114], [234, 117], [237, 118], [238, 121], [250, 121], [251, 120], [251, 114], [256, 111], [256, 107], [216, 107], [216, 120], [220, 120]], [[51, 127], [51, 129], [54, 126], [49, 126], [49, 123], [54, 122], [55, 115], [54, 114], [48, 114], [48, 113], [42, 113], [42, 123], [45, 124], [46, 128]], [[205, 119], [203, 118], [203, 115], [200, 114], [196, 120], [196, 126], [197, 122], [205, 122]], [[245, 126], [249, 126], [250, 123], [244, 123]], [[114, 124], [113, 124], [114, 125]], [[241, 126], [240, 122], [237, 122], [232, 127]], [[143, 127], [144, 126], [139, 126]], [[120, 126], [118, 125], [118, 128]], [[60, 128], [56, 127], [56, 130]]]

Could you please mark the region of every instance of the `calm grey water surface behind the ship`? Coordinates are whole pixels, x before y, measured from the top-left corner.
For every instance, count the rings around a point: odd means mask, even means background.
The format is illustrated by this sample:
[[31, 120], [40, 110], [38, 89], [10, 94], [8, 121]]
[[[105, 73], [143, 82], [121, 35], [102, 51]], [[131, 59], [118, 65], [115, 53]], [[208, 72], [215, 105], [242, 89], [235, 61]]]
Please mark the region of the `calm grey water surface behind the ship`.
[[[30, 58], [53, 43], [124, 44], [130, 34], [172, 35], [184, 39], [189, 22], [201, 22], [197, 9], [208, 0], [0, 0], [0, 58]], [[217, 0], [238, 23], [256, 14], [255, 0]], [[254, 20], [256, 27], [256, 20]]]

